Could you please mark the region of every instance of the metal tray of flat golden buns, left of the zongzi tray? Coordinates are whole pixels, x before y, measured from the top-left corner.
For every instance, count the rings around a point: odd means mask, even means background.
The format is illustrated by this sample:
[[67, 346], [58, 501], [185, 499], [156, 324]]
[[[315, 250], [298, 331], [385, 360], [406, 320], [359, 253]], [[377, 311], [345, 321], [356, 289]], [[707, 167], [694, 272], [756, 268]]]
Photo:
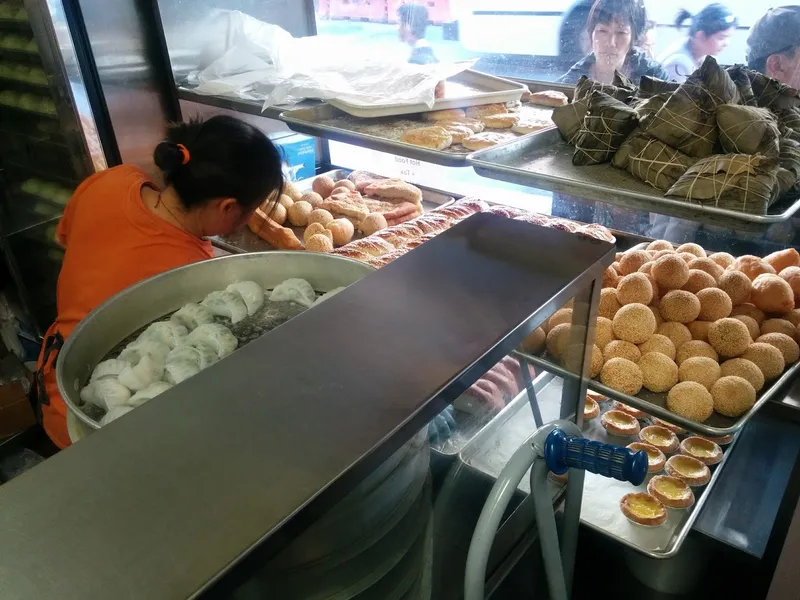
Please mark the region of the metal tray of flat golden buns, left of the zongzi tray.
[[[460, 109], [454, 110], [458, 111]], [[552, 107], [534, 105], [530, 102], [520, 103], [517, 101], [505, 105], [503, 103], [477, 105], [475, 110], [494, 110], [497, 114], [510, 110], [519, 116], [520, 125], [524, 121], [533, 121], [534, 123], [540, 123], [539, 126], [544, 129], [555, 127], [551, 121]], [[427, 109], [425, 111], [430, 112]], [[322, 104], [310, 108], [288, 110], [281, 113], [280, 118], [292, 130], [299, 133], [406, 156], [446, 167], [468, 167], [467, 156], [474, 150], [469, 150], [455, 139], [451, 139], [451, 144], [441, 150], [401, 141], [404, 134], [408, 134], [413, 130], [431, 128], [437, 124], [435, 119], [426, 120], [433, 119], [430, 115], [426, 117], [426, 112], [417, 111], [416, 114], [403, 116], [363, 119], [349, 115], [331, 104]], [[469, 108], [466, 109], [466, 114], [467, 117], [470, 117]], [[443, 120], [448, 120], [448, 118], [445, 117]], [[461, 121], [461, 117], [456, 120], [459, 121], [457, 124], [465, 124]], [[477, 120], [480, 120], [480, 118]], [[474, 121], [475, 119], [469, 121], [468, 128], [474, 126]], [[477, 128], [473, 128], [472, 131], [478, 135], [490, 133], [499, 136], [498, 144], [505, 144], [526, 135], [524, 133], [516, 133], [509, 128], [500, 129], [488, 125], [483, 128], [480, 124], [478, 124]], [[471, 132], [468, 131], [467, 133]]]

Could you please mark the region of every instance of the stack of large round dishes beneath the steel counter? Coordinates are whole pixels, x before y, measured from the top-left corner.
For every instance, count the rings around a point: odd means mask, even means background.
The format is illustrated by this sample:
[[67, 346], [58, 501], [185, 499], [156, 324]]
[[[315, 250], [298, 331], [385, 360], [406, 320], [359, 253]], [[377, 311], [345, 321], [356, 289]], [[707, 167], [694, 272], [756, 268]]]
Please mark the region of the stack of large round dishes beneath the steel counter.
[[236, 600], [429, 598], [429, 468], [423, 431], [296, 537]]

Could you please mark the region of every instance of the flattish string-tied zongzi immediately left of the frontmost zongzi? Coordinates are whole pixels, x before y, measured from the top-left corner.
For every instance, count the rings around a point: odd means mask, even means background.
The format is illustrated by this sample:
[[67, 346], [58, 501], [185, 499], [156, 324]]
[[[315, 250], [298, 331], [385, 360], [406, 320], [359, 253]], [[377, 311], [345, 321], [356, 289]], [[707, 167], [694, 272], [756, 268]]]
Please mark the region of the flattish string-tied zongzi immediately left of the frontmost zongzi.
[[667, 191], [695, 163], [695, 159], [641, 131], [625, 140], [614, 155], [615, 167], [659, 190]]

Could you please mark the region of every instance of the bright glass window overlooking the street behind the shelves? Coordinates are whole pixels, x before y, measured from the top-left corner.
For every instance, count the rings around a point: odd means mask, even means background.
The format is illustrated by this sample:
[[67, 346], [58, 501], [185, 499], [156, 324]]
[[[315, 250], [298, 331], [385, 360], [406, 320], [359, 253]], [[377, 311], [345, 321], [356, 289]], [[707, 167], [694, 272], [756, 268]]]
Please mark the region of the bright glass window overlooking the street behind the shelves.
[[[697, 0], [606, 1], [605, 15], [627, 14], [633, 7], [638, 22], [626, 40], [611, 43], [604, 39], [607, 31], [597, 27], [591, 35], [588, 31], [594, 4], [594, 0], [321, 0], [317, 30], [320, 35], [357, 38], [373, 55], [411, 58], [420, 47], [428, 47], [439, 61], [477, 60], [476, 68], [487, 73], [554, 81], [593, 50], [605, 55], [616, 52], [610, 45], [639, 49], [662, 65], [682, 57], [699, 63], [707, 54], [724, 64], [743, 63], [748, 30], [765, 12], [763, 5], [744, 0], [711, 8]], [[601, 29], [607, 29], [608, 18], [599, 12], [595, 23], [603, 22]], [[404, 28], [400, 22], [404, 15], [411, 15], [412, 21], [427, 15], [427, 27]], [[706, 31], [698, 31], [702, 28]], [[626, 68], [638, 75], [631, 65]]]

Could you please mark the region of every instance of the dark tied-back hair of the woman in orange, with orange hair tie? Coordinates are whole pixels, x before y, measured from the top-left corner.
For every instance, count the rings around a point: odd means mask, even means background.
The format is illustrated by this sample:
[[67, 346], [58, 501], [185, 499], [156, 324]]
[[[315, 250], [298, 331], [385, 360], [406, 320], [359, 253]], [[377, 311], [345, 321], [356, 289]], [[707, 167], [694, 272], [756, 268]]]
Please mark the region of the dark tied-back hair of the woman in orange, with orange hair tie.
[[170, 125], [153, 160], [187, 209], [213, 198], [235, 198], [253, 208], [283, 188], [277, 148], [262, 131], [234, 117]]

